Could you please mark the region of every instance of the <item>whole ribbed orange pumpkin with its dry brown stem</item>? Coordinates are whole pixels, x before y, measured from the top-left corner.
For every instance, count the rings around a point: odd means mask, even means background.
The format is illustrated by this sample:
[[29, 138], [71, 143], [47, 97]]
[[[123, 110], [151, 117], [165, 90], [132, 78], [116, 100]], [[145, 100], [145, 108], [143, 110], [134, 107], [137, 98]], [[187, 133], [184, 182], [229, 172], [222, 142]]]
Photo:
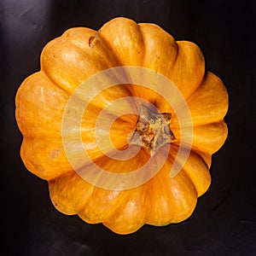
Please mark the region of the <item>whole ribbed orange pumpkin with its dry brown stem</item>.
[[[45, 45], [40, 61], [40, 71], [20, 84], [15, 116], [23, 135], [21, 159], [30, 172], [49, 183], [55, 208], [78, 214], [89, 224], [102, 223], [118, 234], [130, 234], [143, 224], [163, 226], [189, 218], [197, 198], [210, 186], [212, 154], [222, 147], [228, 132], [224, 122], [228, 94], [221, 79], [205, 69], [201, 49], [176, 41], [160, 26], [118, 17], [97, 32], [86, 27], [68, 29]], [[117, 73], [120, 78], [108, 88], [86, 82], [106, 70], [125, 67], [128, 71], [143, 68], [149, 74], [148, 80], [143, 78], [145, 84], [152, 78], [158, 81], [154, 78], [159, 76], [171, 81], [183, 104], [174, 108], [168, 97], [155, 91], [163, 84], [154, 83], [155, 90], [132, 84], [131, 74]], [[111, 76], [105, 77], [107, 81]], [[104, 79], [98, 80], [104, 85]], [[78, 90], [84, 81], [87, 87]], [[171, 90], [168, 86], [166, 93]], [[111, 105], [114, 102], [119, 104]], [[190, 123], [178, 116], [183, 105]], [[82, 109], [78, 122], [73, 121], [76, 106]], [[63, 139], [64, 119], [68, 129]], [[110, 119], [110, 143], [100, 147], [106, 138], [101, 125]], [[187, 157], [179, 172], [170, 175], [181, 148], [189, 148]], [[130, 155], [129, 150], [137, 154]], [[84, 174], [73, 160], [84, 166]], [[141, 168], [144, 177], [154, 165], [159, 170], [139, 183], [133, 178], [126, 187], [114, 187], [113, 180], [106, 178], [101, 185], [97, 180], [102, 172], [93, 172], [96, 166], [117, 175]], [[87, 172], [96, 174], [87, 179]]]

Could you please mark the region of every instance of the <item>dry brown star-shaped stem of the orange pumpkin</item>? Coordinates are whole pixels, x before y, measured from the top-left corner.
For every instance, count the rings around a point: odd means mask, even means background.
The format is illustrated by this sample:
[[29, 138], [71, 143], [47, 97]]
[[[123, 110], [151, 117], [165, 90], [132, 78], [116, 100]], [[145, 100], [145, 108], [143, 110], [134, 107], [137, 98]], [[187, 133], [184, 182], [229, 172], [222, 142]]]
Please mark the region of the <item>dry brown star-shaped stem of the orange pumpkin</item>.
[[174, 135], [170, 128], [171, 113], [153, 113], [149, 108], [141, 105], [139, 108], [136, 131], [130, 143], [139, 145], [148, 151], [150, 156], [166, 143], [171, 143]]

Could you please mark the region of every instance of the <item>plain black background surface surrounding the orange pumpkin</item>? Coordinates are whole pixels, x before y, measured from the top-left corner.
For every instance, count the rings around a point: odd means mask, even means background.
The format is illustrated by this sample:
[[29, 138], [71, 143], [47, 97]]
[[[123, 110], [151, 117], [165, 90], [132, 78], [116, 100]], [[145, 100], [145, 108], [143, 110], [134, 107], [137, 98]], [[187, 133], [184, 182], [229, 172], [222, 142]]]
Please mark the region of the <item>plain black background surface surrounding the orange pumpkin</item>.
[[[255, 1], [1, 0], [2, 255], [256, 255]], [[230, 96], [229, 137], [213, 155], [212, 184], [181, 224], [119, 236], [57, 212], [47, 183], [27, 172], [19, 150], [15, 93], [39, 69], [49, 40], [72, 26], [99, 29], [125, 16], [198, 44]]]

